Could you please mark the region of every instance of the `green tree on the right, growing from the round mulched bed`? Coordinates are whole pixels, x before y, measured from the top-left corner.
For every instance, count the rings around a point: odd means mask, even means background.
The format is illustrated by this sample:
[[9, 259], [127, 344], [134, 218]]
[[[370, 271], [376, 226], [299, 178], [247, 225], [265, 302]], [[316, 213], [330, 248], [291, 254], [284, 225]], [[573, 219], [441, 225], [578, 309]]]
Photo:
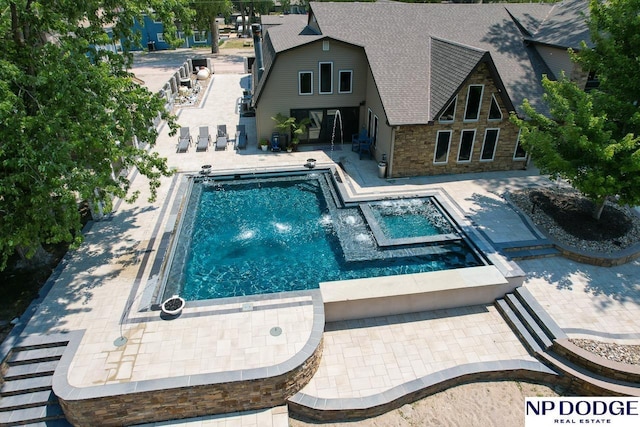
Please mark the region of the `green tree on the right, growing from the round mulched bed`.
[[640, 0], [591, 2], [593, 48], [583, 43], [572, 57], [595, 71], [600, 87], [585, 92], [564, 76], [544, 78], [547, 117], [525, 100], [521, 142], [543, 173], [564, 178], [595, 203], [593, 217], [607, 200], [640, 204]]

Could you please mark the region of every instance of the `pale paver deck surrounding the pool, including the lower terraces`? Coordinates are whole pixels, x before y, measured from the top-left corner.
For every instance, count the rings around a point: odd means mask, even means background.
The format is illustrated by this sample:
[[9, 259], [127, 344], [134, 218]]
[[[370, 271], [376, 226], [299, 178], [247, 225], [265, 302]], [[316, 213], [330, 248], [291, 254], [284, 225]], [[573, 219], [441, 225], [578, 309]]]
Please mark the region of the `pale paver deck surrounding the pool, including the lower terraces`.
[[[236, 64], [237, 65], [237, 64]], [[141, 71], [142, 73], [142, 71]], [[274, 295], [250, 305], [227, 301], [187, 304], [174, 320], [157, 311], [140, 311], [156, 284], [162, 255], [175, 225], [182, 196], [181, 174], [210, 164], [215, 172], [256, 173], [270, 168], [299, 169], [315, 158], [317, 167], [340, 163], [352, 200], [372, 196], [442, 192], [490, 243], [532, 240], [531, 227], [501, 196], [531, 186], [551, 186], [535, 169], [455, 176], [380, 179], [377, 164], [359, 160], [350, 145], [335, 144], [295, 153], [259, 151], [252, 118], [240, 118], [237, 101], [248, 77], [221, 67], [195, 108], [178, 111], [178, 122], [197, 139], [199, 126], [247, 127], [248, 147], [237, 151], [213, 146], [176, 153], [177, 136], [160, 128], [155, 150], [178, 172], [163, 178], [155, 202], [146, 181], [131, 173], [137, 202], [116, 203], [107, 219], [92, 223], [85, 243], [64, 259], [46, 297], [25, 316], [22, 337], [83, 330], [70, 362], [74, 390], [125, 387], [133, 382], [183, 381], [266, 370], [285, 364], [304, 350], [318, 328], [324, 330], [320, 367], [301, 390], [315, 399], [367, 399], [420, 378], [481, 363], [537, 363], [493, 304], [345, 320], [324, 325], [317, 294]], [[233, 215], [233, 212], [229, 212]], [[258, 255], [259, 256], [259, 255]], [[570, 337], [640, 344], [640, 269], [634, 261], [604, 268], [564, 258], [518, 262], [525, 287]], [[319, 323], [320, 322], [320, 323]], [[276, 335], [273, 328], [280, 328]], [[120, 337], [126, 338], [123, 345]], [[475, 365], [474, 365], [475, 366]], [[286, 426], [286, 408], [217, 415], [154, 425]], [[228, 424], [225, 424], [228, 423]], [[229, 424], [231, 423], [231, 424]]]

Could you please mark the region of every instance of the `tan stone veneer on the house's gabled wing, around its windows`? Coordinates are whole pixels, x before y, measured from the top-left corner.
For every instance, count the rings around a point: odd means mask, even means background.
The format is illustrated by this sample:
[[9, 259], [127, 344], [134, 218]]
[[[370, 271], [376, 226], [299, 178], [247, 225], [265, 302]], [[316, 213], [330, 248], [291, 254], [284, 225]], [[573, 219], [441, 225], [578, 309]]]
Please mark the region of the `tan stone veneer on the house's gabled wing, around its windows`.
[[[463, 122], [467, 88], [469, 85], [478, 84], [484, 85], [479, 120]], [[502, 120], [500, 121], [488, 119], [492, 94], [495, 95], [502, 111]], [[500, 129], [495, 157], [493, 161], [480, 161], [484, 133], [489, 128]], [[476, 130], [473, 153], [470, 162], [458, 163], [460, 136], [461, 131], [464, 129]], [[436, 165], [433, 163], [433, 157], [436, 136], [439, 130], [452, 130], [453, 133], [451, 135], [448, 162]], [[518, 133], [518, 127], [509, 121], [509, 112], [502, 102], [489, 68], [483, 64], [460, 89], [453, 123], [439, 123], [436, 121], [432, 125], [400, 126], [396, 130], [393, 176], [390, 178], [522, 169], [525, 166], [525, 160], [513, 160]]]

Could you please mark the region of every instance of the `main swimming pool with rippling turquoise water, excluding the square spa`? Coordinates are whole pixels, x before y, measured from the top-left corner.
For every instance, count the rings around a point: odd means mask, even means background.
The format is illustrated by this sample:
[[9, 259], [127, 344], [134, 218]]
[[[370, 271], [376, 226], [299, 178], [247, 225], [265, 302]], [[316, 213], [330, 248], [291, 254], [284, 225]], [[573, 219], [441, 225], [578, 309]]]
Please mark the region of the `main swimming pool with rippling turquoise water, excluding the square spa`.
[[467, 243], [380, 246], [330, 173], [194, 180], [164, 296], [203, 300], [482, 265]]

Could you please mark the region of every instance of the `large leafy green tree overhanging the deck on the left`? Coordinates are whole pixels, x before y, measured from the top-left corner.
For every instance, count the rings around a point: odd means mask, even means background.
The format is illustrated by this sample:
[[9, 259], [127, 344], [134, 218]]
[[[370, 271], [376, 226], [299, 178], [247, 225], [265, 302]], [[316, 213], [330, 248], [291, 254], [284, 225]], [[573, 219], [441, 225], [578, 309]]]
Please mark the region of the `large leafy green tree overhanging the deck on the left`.
[[[17, 250], [32, 257], [43, 243], [82, 236], [78, 205], [111, 207], [134, 200], [121, 170], [136, 168], [151, 199], [166, 159], [144, 149], [155, 143], [153, 121], [177, 127], [164, 101], [126, 70], [132, 32], [143, 12], [175, 33], [189, 19], [181, 1], [33, 2], [0, 0], [0, 269]], [[185, 21], [187, 22], [187, 21]], [[122, 39], [122, 54], [106, 49]], [[171, 38], [170, 38], [171, 39]], [[175, 40], [176, 37], [173, 37]], [[137, 143], [135, 141], [137, 140]]]

